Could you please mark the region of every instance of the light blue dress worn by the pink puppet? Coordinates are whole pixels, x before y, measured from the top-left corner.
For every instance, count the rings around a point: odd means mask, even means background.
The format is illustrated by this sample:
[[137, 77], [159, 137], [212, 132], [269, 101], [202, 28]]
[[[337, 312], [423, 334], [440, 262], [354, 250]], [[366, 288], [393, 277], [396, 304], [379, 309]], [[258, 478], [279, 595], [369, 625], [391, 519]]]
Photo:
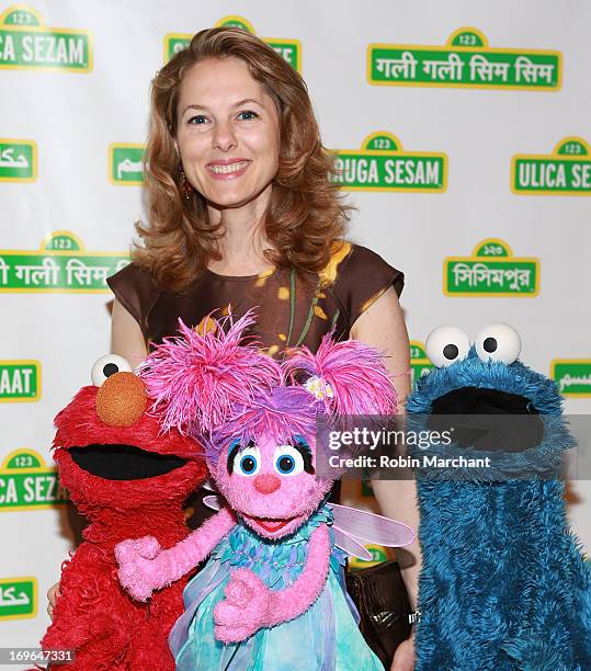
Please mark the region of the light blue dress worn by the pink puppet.
[[272, 589], [292, 584], [305, 564], [310, 533], [321, 522], [332, 523], [329, 507], [317, 511], [282, 543], [265, 541], [239, 524], [218, 544], [207, 565], [186, 585], [185, 613], [170, 634], [170, 649], [179, 671], [384, 668], [357, 628], [355, 606], [343, 584], [345, 555], [334, 546], [325, 589], [297, 619], [259, 629], [237, 644], [224, 645], [215, 638], [214, 607], [224, 598], [231, 570], [249, 568]]

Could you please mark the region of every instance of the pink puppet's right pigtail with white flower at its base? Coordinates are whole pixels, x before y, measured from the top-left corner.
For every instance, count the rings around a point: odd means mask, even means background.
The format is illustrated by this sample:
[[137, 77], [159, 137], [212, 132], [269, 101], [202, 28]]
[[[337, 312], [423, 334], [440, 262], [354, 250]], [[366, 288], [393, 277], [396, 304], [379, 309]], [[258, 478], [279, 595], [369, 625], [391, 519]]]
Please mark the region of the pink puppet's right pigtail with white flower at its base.
[[309, 374], [303, 386], [315, 393], [327, 413], [396, 412], [396, 389], [384, 357], [376, 349], [359, 340], [334, 342], [331, 333], [327, 333], [316, 354], [305, 346], [294, 349], [283, 365], [292, 383], [298, 379], [298, 372]]

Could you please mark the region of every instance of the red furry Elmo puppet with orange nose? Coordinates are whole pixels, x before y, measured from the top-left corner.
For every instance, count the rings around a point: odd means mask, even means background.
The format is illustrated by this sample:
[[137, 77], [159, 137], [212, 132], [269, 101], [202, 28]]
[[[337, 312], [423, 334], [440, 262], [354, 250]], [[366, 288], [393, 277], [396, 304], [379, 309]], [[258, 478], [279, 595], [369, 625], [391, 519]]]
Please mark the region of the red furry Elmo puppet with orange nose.
[[187, 534], [183, 502], [206, 477], [201, 447], [178, 432], [159, 433], [146, 412], [141, 379], [120, 356], [93, 367], [56, 417], [54, 458], [59, 478], [89, 520], [83, 542], [64, 561], [54, 621], [42, 640], [48, 649], [72, 649], [68, 671], [172, 671], [169, 632], [183, 612], [185, 580], [133, 601], [117, 580], [114, 546], [125, 538], [156, 536], [172, 547]]

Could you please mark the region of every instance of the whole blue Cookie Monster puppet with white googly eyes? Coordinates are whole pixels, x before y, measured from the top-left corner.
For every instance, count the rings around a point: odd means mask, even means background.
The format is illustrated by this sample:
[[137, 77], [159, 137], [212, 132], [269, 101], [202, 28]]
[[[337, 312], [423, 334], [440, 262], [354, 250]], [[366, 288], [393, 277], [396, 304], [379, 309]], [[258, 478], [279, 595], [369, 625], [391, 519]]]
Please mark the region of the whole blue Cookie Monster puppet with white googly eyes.
[[518, 360], [508, 325], [473, 346], [440, 327], [425, 349], [437, 368], [408, 399], [409, 427], [441, 430], [455, 416], [455, 433], [412, 456], [459, 467], [417, 469], [417, 671], [591, 669], [591, 570], [566, 519], [560, 471], [573, 441], [556, 384]]

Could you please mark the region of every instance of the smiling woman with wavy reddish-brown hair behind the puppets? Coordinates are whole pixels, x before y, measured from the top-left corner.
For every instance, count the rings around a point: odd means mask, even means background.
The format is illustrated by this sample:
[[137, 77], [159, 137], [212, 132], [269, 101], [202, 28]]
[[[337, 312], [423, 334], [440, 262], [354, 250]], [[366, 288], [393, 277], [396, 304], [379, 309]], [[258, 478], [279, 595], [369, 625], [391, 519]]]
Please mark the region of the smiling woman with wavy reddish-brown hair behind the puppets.
[[[195, 35], [152, 82], [146, 151], [149, 224], [134, 263], [110, 278], [112, 349], [135, 366], [177, 319], [208, 328], [213, 309], [257, 307], [271, 355], [322, 334], [388, 355], [401, 402], [409, 391], [402, 274], [343, 241], [349, 207], [327, 175], [307, 89], [259, 38], [238, 29]], [[413, 482], [376, 481], [386, 514], [418, 525]], [[418, 547], [405, 581], [414, 605]], [[54, 596], [52, 594], [52, 596]], [[412, 641], [393, 669], [412, 669]]]

